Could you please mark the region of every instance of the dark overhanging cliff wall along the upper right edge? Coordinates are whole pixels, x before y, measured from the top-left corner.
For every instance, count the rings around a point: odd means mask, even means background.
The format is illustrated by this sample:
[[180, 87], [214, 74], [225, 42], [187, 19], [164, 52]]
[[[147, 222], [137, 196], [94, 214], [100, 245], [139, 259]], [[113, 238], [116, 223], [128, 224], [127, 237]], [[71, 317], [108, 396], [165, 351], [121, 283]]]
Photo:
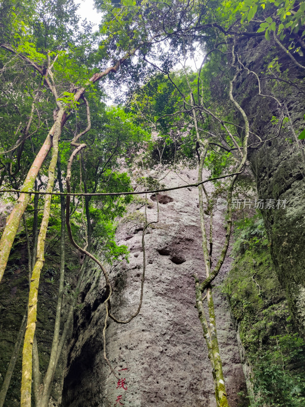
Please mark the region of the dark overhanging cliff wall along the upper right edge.
[[[286, 44], [287, 47], [289, 44]], [[238, 95], [245, 109], [252, 130], [266, 143], [257, 143], [251, 136], [252, 148], [249, 158], [256, 179], [259, 198], [266, 202], [272, 199], [275, 208], [261, 209], [270, 242], [271, 257], [277, 275], [286, 290], [289, 308], [300, 333], [305, 337], [305, 157], [304, 141], [297, 136], [305, 128], [304, 121], [304, 70], [295, 66], [291, 59], [272, 41], [252, 39], [240, 41], [238, 51], [241, 61], [247, 68], [260, 74], [266, 70], [274, 57], [278, 57], [279, 72], [289, 72], [289, 80], [297, 83], [291, 86], [286, 82], [261, 80], [261, 94], [254, 75], [245, 75], [238, 83]], [[262, 55], [266, 55], [262, 59]], [[295, 54], [304, 65], [304, 57]], [[260, 75], [259, 75], [260, 76]], [[262, 75], [264, 76], [264, 75]], [[265, 76], [268, 76], [266, 74]], [[275, 76], [276, 77], [276, 76]], [[281, 131], [280, 124], [272, 120], [286, 117]], [[277, 203], [280, 200], [280, 207]], [[286, 207], [283, 201], [286, 200]]]

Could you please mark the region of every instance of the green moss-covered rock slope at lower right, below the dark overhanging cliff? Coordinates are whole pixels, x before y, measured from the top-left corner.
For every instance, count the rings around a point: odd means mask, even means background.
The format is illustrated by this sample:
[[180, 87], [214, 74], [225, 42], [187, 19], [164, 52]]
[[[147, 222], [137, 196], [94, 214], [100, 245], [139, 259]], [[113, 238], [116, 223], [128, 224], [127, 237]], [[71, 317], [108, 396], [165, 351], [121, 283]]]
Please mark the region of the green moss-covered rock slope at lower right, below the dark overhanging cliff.
[[[239, 254], [222, 286], [252, 366], [252, 407], [301, 407], [305, 400], [305, 344], [296, 333], [285, 290], [269, 248], [258, 244]], [[298, 393], [294, 393], [294, 389]]]

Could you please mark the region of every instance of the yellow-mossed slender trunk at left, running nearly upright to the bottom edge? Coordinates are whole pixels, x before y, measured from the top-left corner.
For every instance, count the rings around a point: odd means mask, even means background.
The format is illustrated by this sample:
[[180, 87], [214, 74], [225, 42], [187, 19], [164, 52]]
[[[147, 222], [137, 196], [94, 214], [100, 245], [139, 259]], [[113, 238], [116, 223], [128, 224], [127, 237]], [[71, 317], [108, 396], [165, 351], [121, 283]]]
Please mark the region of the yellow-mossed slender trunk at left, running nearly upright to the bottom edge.
[[[54, 124], [54, 135], [53, 135], [53, 150], [52, 158], [49, 165], [49, 174], [48, 174], [48, 184], [46, 192], [53, 191], [54, 185], [54, 172], [58, 156], [58, 139], [60, 137], [61, 131], [61, 121], [64, 114], [64, 109], [60, 109], [57, 113], [57, 119]], [[35, 179], [38, 171], [36, 171]], [[32, 183], [32, 188], [35, 182], [35, 179]], [[20, 195], [21, 196], [21, 195]], [[40, 227], [40, 232], [38, 236], [37, 243], [37, 260], [35, 267], [33, 269], [33, 274], [31, 278], [31, 286], [29, 289], [28, 297], [28, 314], [27, 314], [27, 326], [24, 337], [23, 345], [23, 358], [22, 358], [22, 381], [21, 381], [21, 407], [31, 407], [31, 388], [32, 388], [32, 356], [33, 356], [33, 340], [36, 329], [37, 322], [37, 296], [38, 296], [38, 287], [41, 269], [44, 265], [44, 244], [47, 233], [47, 226], [50, 216], [50, 207], [51, 207], [51, 198], [52, 195], [45, 196], [45, 204], [43, 217]], [[21, 214], [22, 216], [22, 214]], [[16, 229], [17, 230], [17, 229]], [[15, 234], [14, 234], [15, 237]]]

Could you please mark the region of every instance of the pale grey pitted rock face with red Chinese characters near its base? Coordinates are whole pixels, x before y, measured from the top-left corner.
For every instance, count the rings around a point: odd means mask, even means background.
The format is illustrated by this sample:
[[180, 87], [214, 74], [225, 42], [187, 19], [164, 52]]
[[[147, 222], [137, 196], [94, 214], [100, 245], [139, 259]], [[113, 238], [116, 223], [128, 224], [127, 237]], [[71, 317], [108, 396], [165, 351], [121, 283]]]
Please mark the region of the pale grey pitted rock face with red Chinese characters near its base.
[[[170, 173], [166, 186], [195, 179], [196, 171]], [[75, 315], [64, 381], [63, 407], [215, 407], [215, 392], [206, 344], [195, 309], [194, 278], [203, 279], [201, 232], [197, 209], [198, 190], [168, 192], [168, 202], [159, 205], [160, 221], [145, 235], [146, 275], [143, 304], [129, 324], [108, 320], [106, 353], [118, 379], [107, 366], [103, 352], [105, 288], [103, 279], [84, 298]], [[137, 198], [139, 199], [139, 198]], [[148, 221], [157, 218], [157, 202], [150, 200]], [[112, 268], [111, 312], [127, 319], [137, 309], [140, 297], [143, 251], [141, 245], [144, 208], [121, 221], [117, 241], [127, 244], [130, 263]], [[139, 205], [138, 205], [139, 207]], [[135, 211], [135, 212], [132, 212]], [[215, 213], [215, 243], [224, 238], [222, 211]], [[216, 254], [216, 253], [215, 253]], [[214, 256], [215, 257], [215, 256]], [[219, 279], [230, 267], [227, 259]], [[236, 334], [225, 297], [215, 288], [215, 307], [220, 352], [231, 407], [245, 406], [238, 392], [245, 390]], [[97, 301], [98, 299], [98, 301]]]

